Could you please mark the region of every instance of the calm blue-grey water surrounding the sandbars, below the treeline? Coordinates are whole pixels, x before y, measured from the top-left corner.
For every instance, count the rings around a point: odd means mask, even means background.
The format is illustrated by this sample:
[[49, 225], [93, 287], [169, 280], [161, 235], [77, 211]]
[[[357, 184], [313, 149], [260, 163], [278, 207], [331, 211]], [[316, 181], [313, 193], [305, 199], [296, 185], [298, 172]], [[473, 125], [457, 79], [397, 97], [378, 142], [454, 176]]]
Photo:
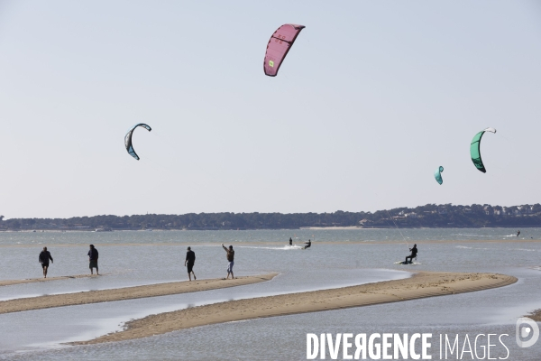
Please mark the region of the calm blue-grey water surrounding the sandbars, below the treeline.
[[[0, 233], [0, 279], [35, 278], [43, 245], [55, 259], [50, 276], [88, 273], [87, 245], [100, 252], [102, 277], [0, 287], [0, 299], [80, 292], [187, 278], [186, 246], [197, 254], [198, 278], [225, 276], [225, 252], [234, 245], [235, 274], [279, 272], [271, 282], [146, 300], [116, 301], [0, 315], [0, 357], [10, 359], [306, 359], [306, 334], [432, 332], [437, 335], [507, 333], [510, 359], [541, 358], [541, 341], [519, 348], [515, 321], [541, 308], [541, 228], [366, 229], [280, 231], [169, 231]], [[294, 237], [307, 251], [284, 246]], [[416, 266], [393, 264], [418, 244]], [[142, 340], [65, 347], [69, 340], [94, 338], [129, 319], [216, 301], [284, 292], [334, 288], [408, 277], [404, 270], [497, 272], [519, 282], [500, 289], [417, 301], [271, 319], [231, 322], [172, 332]], [[45, 330], [45, 332], [44, 332]], [[436, 351], [433, 352], [436, 356]], [[468, 355], [468, 354], [466, 354]], [[498, 356], [498, 355], [497, 355]], [[505, 356], [505, 354], [503, 354]], [[327, 356], [328, 357], [328, 356]], [[436, 357], [437, 358], [437, 357]]]

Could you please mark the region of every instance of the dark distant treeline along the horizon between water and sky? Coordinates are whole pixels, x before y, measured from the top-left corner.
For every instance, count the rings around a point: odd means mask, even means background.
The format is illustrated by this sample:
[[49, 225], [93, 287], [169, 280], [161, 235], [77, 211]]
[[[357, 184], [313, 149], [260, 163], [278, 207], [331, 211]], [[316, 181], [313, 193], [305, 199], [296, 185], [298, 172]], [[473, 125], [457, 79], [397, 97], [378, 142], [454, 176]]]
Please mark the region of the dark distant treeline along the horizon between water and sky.
[[500, 207], [427, 204], [377, 212], [188, 213], [184, 215], [11, 218], [0, 230], [295, 229], [299, 227], [541, 227], [541, 205]]

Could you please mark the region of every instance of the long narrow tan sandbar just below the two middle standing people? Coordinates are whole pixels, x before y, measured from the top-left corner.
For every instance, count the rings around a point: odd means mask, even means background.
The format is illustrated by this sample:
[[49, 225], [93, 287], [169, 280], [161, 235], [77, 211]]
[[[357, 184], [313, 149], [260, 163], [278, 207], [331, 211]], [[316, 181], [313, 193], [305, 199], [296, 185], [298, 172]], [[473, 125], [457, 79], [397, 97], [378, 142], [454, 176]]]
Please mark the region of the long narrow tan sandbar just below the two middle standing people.
[[133, 300], [146, 297], [167, 296], [170, 294], [216, 290], [220, 288], [270, 281], [277, 275], [278, 273], [269, 273], [256, 276], [237, 277], [234, 280], [207, 279], [192, 282], [168, 282], [136, 287], [117, 288], [113, 290], [53, 294], [48, 296], [0, 301], [0, 314], [20, 312], [23, 310], [41, 310], [50, 309], [52, 307], [73, 306], [87, 303]]

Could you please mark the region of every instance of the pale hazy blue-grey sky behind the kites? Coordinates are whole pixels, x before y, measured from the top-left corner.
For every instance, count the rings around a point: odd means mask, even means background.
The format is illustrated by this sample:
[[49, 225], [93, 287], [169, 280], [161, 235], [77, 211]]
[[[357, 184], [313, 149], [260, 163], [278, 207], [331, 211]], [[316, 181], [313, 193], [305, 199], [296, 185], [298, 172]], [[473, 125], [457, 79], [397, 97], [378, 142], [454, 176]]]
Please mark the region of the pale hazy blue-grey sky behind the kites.
[[535, 0], [0, 0], [0, 214], [538, 203], [540, 66]]

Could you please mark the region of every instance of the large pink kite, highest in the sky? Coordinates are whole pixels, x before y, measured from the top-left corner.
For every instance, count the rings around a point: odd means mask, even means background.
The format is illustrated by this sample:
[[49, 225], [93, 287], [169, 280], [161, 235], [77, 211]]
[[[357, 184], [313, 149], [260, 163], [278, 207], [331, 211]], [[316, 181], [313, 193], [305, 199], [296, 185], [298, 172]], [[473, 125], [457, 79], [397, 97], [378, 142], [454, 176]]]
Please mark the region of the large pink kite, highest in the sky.
[[267, 44], [267, 52], [265, 52], [265, 61], [263, 62], [265, 75], [276, 77], [280, 65], [286, 59], [286, 55], [288, 55], [289, 49], [297, 39], [298, 33], [305, 27], [304, 25], [286, 23], [272, 34], [271, 40]]

